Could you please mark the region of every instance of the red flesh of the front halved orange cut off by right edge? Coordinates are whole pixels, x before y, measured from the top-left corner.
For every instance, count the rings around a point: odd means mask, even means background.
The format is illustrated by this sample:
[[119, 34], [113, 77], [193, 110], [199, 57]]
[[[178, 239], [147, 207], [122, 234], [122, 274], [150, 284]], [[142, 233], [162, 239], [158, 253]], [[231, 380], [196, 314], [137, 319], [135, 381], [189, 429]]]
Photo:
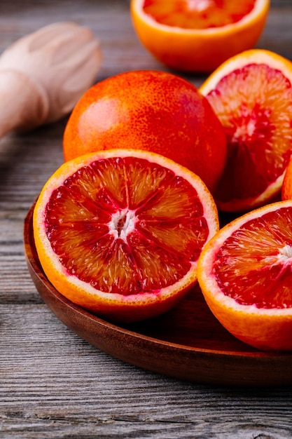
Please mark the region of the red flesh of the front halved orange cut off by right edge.
[[292, 309], [292, 209], [267, 212], [234, 231], [217, 252], [214, 273], [223, 294], [239, 304]]

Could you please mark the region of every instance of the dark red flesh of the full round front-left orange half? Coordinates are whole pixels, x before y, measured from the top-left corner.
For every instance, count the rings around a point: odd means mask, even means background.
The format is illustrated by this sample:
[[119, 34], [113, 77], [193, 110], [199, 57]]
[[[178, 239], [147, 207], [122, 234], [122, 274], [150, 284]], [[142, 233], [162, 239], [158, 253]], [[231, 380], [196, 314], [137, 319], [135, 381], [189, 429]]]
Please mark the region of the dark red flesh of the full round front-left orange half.
[[[116, 181], [120, 187], [111, 187]], [[92, 201], [87, 194], [95, 192]], [[172, 285], [190, 270], [209, 234], [195, 189], [132, 157], [79, 169], [53, 192], [45, 222], [70, 275], [123, 295]]]

